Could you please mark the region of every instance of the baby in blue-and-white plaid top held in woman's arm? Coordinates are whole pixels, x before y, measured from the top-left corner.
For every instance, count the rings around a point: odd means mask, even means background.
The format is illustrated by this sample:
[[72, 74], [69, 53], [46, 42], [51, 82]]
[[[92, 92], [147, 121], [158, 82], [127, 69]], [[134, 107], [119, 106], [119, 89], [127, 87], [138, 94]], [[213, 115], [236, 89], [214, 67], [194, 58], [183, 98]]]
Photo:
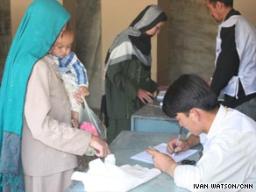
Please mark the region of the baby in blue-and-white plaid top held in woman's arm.
[[82, 106], [76, 103], [73, 94], [79, 90], [82, 96], [89, 96], [89, 82], [87, 71], [82, 62], [77, 58], [75, 53], [71, 52], [73, 41], [74, 31], [68, 23], [62, 37], [57, 39], [50, 53], [52, 53], [53, 60], [58, 65], [61, 78], [68, 91], [68, 98], [72, 107], [72, 124], [74, 127], [79, 127], [82, 123], [81, 119], [79, 119]]

